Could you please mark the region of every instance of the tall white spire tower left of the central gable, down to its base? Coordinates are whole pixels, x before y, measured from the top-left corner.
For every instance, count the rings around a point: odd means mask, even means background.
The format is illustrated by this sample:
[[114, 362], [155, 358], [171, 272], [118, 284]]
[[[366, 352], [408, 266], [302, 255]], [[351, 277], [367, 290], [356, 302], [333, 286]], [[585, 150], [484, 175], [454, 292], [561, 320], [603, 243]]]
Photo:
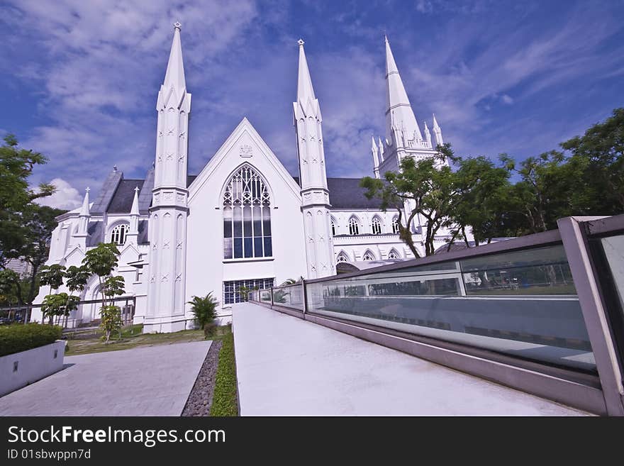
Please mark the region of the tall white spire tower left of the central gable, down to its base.
[[[184, 293], [191, 94], [186, 92], [180, 29], [180, 23], [175, 23], [165, 81], [156, 103], [156, 160], [148, 232], [150, 265], [144, 333], [184, 330], [188, 320]], [[138, 211], [136, 192], [134, 200]], [[138, 215], [131, 217], [138, 221]]]

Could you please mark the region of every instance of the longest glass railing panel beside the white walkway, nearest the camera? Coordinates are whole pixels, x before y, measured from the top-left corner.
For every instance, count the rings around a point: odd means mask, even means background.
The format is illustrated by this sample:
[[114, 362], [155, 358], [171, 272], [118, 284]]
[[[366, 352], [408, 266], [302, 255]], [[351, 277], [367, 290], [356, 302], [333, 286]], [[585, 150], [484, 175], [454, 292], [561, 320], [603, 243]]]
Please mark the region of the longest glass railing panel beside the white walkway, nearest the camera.
[[596, 369], [561, 245], [337, 278], [307, 292], [318, 314]]

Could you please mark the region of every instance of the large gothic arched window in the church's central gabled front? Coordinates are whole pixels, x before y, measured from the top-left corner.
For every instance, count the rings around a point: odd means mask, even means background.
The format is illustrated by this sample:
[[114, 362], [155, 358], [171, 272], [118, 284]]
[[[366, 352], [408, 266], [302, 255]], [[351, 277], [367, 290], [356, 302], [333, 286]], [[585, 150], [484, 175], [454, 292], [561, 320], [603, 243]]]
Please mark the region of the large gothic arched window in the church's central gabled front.
[[223, 192], [223, 257], [271, 257], [271, 198], [251, 165], [230, 177]]

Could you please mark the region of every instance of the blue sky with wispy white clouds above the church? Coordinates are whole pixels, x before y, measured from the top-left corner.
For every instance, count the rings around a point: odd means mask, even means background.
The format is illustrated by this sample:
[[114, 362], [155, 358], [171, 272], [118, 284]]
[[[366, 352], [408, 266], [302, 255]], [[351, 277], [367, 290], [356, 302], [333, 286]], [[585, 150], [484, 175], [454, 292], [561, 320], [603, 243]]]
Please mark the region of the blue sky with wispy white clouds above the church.
[[172, 23], [193, 94], [189, 173], [247, 116], [296, 173], [292, 104], [306, 41], [323, 111], [328, 175], [372, 174], [384, 135], [387, 33], [416, 118], [435, 113], [461, 155], [522, 160], [624, 106], [624, 2], [0, 2], [0, 134], [50, 162], [50, 203], [71, 208], [118, 165], [143, 177]]

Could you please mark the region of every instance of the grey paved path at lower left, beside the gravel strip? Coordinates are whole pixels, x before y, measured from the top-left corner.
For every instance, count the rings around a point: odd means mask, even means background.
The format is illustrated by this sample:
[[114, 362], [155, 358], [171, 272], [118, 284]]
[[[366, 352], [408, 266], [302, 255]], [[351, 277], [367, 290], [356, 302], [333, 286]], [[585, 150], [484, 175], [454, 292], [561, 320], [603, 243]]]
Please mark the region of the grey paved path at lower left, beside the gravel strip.
[[210, 344], [65, 357], [64, 370], [1, 397], [0, 415], [179, 416]]

